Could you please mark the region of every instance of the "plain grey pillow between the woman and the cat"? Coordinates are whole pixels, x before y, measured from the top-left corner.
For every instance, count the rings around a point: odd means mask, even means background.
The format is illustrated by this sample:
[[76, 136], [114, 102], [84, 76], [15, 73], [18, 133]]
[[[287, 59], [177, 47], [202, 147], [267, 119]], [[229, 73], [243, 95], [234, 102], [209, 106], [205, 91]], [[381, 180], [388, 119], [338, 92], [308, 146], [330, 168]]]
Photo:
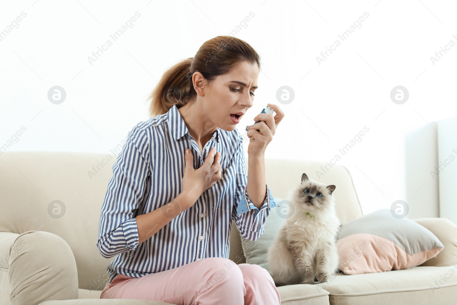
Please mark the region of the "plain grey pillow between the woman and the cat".
[[268, 217], [265, 220], [265, 230], [263, 234], [256, 241], [250, 241], [239, 235], [241, 238], [241, 245], [243, 246], [243, 253], [246, 255], [246, 262], [248, 264], [259, 265], [260, 267], [265, 268], [269, 273], [271, 272], [268, 264], [268, 249], [275, 240], [276, 234], [286, 218], [287, 207], [285, 203], [288, 202], [284, 201], [284, 203], [281, 203], [283, 199], [276, 197], [273, 197], [273, 200], [279, 206], [271, 208], [270, 214], [268, 214]]

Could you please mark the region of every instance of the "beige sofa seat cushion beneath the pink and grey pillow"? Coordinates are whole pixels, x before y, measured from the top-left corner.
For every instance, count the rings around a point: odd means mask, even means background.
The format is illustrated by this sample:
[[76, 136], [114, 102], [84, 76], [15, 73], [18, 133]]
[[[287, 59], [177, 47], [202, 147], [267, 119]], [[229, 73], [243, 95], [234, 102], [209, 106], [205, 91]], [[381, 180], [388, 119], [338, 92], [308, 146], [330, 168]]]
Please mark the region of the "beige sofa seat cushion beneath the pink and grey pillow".
[[457, 265], [413, 267], [378, 273], [337, 273], [316, 284], [329, 291], [330, 304], [455, 304]]

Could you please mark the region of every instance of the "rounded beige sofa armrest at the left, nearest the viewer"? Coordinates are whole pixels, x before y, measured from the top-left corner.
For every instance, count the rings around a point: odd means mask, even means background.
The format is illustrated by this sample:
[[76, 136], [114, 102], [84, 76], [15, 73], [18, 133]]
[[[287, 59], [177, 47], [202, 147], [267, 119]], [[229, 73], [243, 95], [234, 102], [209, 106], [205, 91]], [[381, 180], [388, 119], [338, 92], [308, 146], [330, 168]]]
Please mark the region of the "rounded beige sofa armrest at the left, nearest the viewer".
[[60, 236], [44, 231], [0, 232], [0, 268], [8, 272], [11, 305], [78, 297], [73, 252]]

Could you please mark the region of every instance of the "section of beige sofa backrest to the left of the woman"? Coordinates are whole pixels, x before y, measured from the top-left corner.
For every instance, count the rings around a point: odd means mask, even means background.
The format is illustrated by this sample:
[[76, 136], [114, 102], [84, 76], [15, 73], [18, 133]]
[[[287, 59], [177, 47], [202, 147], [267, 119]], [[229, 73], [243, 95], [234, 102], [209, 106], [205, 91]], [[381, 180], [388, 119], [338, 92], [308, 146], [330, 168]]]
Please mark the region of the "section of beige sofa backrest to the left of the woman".
[[62, 237], [73, 251], [79, 288], [103, 289], [106, 267], [113, 257], [104, 258], [98, 251], [98, 222], [116, 157], [6, 151], [0, 156], [0, 231], [21, 234], [39, 230]]

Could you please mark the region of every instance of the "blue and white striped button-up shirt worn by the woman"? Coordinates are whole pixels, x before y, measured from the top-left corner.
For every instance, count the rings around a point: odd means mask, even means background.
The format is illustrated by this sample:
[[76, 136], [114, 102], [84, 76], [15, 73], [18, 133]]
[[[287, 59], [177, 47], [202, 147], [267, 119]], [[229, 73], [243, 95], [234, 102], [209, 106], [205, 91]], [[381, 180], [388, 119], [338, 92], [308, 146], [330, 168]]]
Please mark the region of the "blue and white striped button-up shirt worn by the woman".
[[[221, 179], [192, 207], [139, 244], [135, 217], [166, 205], [182, 192], [184, 151], [192, 151], [198, 169], [213, 146], [221, 152]], [[237, 128], [230, 132], [218, 128], [200, 153], [176, 105], [132, 128], [112, 171], [97, 241], [103, 257], [116, 256], [108, 264], [108, 283], [117, 274], [140, 278], [206, 257], [228, 258], [232, 220], [244, 238], [255, 241], [265, 230], [270, 209], [278, 206], [267, 185], [260, 209], [249, 200], [243, 138]]]

